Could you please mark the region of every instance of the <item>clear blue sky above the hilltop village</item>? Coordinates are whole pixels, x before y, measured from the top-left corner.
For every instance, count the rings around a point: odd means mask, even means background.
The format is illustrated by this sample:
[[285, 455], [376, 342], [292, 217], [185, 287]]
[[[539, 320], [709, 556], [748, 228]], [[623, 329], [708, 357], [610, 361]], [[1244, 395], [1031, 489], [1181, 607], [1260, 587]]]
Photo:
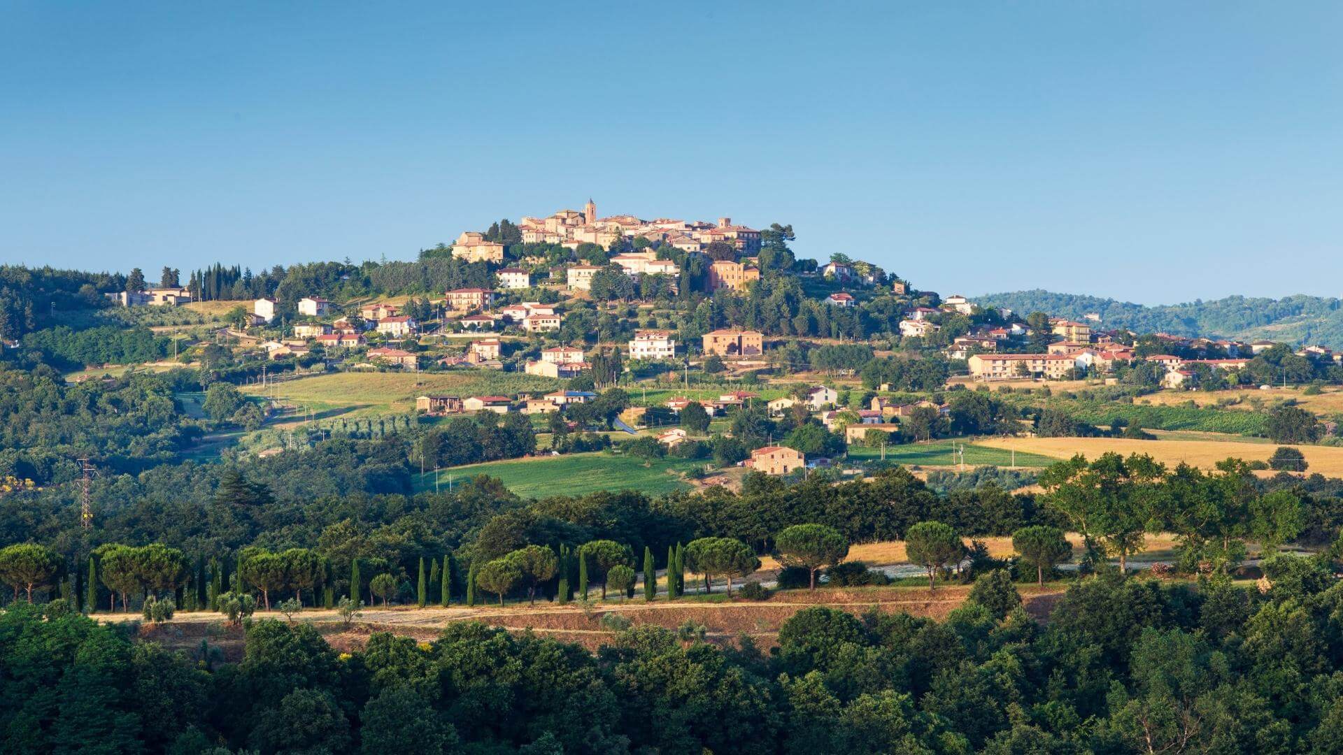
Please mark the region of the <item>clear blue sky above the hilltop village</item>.
[[0, 0], [0, 261], [792, 223], [943, 294], [1338, 296], [1343, 4]]

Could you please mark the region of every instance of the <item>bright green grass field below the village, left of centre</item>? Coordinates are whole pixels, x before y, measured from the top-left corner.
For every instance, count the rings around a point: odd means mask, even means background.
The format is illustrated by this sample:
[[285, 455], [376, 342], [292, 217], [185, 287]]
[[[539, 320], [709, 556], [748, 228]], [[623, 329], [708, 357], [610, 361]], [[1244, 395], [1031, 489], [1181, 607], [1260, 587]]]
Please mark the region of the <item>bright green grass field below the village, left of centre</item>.
[[[547, 496], [583, 496], [598, 490], [638, 490], [659, 496], [686, 488], [680, 473], [696, 463], [685, 459], [658, 459], [651, 466], [631, 458], [602, 451], [473, 463], [438, 470], [438, 484], [446, 490], [449, 480], [461, 482], [477, 474], [488, 474], [504, 482], [518, 496], [544, 498]], [[415, 481], [418, 490], [434, 489], [434, 473]]]

